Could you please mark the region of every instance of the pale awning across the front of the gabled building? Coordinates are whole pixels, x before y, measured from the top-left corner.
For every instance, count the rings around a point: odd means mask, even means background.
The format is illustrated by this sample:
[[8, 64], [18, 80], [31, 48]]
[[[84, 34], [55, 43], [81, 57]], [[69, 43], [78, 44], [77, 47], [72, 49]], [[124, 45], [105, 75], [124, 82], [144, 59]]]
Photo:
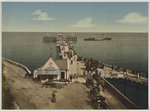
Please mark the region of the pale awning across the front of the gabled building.
[[40, 71], [37, 71], [37, 75], [58, 75], [60, 73], [61, 73], [60, 70], [54, 70], [54, 71], [40, 70]]

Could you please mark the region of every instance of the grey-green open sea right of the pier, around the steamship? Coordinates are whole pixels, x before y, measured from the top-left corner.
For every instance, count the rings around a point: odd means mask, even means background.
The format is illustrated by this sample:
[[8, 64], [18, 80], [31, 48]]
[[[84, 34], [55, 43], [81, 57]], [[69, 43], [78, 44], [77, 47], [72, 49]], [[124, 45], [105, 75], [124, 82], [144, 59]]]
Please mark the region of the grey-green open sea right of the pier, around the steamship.
[[83, 40], [90, 35], [94, 34], [82, 34], [75, 46], [75, 50], [83, 57], [148, 72], [148, 34], [113, 33], [111, 41]]

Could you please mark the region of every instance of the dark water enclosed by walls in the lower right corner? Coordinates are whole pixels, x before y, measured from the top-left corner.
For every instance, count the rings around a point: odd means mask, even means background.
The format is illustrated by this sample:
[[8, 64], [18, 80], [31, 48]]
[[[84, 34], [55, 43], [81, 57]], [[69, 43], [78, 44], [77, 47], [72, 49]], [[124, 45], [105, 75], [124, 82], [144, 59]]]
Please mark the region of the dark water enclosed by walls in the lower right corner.
[[148, 86], [125, 79], [107, 80], [139, 108], [148, 108]]

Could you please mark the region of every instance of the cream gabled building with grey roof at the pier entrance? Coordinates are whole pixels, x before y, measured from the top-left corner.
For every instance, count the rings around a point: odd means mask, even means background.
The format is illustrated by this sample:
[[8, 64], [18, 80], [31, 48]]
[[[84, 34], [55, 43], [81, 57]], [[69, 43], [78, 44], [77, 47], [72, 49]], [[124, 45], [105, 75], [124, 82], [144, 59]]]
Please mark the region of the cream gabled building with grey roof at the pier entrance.
[[69, 60], [52, 59], [50, 57], [41, 67], [34, 70], [34, 78], [45, 79], [68, 79], [69, 78]]

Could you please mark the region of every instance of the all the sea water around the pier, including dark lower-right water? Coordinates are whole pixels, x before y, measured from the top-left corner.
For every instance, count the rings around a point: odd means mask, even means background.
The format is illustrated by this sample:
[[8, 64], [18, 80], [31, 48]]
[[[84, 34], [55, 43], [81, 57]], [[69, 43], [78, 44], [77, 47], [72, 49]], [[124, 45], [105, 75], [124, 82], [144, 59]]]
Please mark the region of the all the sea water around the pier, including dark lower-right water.
[[[101, 36], [101, 32], [2, 32], [2, 57], [19, 62], [29, 68], [41, 67], [50, 56], [59, 58], [55, 43], [43, 42], [44, 36], [77, 36], [74, 50], [82, 57], [93, 58], [99, 62], [120, 66], [142, 72], [148, 77], [148, 33], [103, 33], [112, 40], [84, 41], [84, 38]], [[124, 83], [120, 80], [109, 80], [118, 90], [138, 105], [148, 108], [148, 87], [129, 83], [126, 92], [122, 90]], [[131, 87], [133, 86], [133, 87]], [[131, 90], [132, 89], [132, 90]], [[138, 94], [138, 95], [137, 95]], [[142, 94], [142, 98], [140, 98]]]

